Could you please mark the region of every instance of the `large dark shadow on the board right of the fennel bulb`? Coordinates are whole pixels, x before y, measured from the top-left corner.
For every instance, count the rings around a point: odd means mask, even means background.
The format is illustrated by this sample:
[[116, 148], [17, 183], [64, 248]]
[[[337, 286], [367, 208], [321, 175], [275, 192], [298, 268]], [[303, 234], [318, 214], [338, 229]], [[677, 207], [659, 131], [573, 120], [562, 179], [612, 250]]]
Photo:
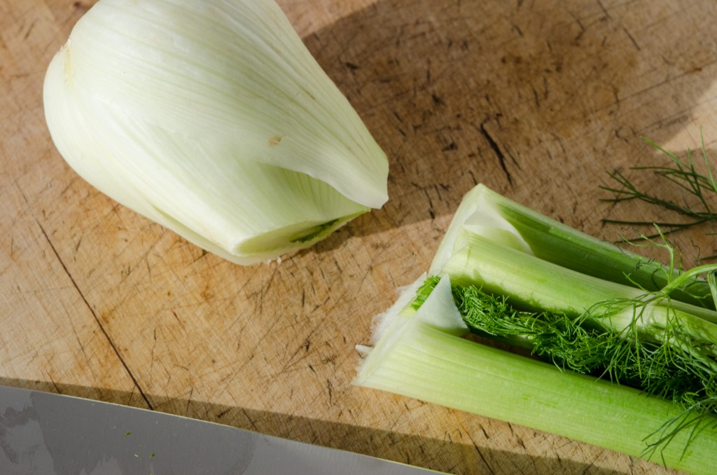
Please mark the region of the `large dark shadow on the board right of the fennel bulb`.
[[717, 24], [675, 8], [379, 0], [306, 36], [390, 161], [384, 208], [315, 249], [450, 216], [477, 182], [599, 230], [607, 171], [652, 163], [641, 136], [708, 125]]

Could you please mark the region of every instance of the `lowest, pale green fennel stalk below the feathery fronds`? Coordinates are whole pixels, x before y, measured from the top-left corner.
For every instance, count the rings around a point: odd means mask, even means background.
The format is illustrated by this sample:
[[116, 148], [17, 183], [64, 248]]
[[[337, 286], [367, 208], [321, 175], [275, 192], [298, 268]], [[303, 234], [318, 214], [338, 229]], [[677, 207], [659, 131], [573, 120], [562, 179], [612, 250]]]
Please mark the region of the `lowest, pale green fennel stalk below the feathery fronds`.
[[[526, 425], [541, 431], [711, 474], [717, 464], [717, 418], [691, 418], [678, 405], [592, 375], [460, 337], [467, 327], [443, 325], [457, 311], [445, 278], [418, 310], [406, 304], [419, 281], [389, 309], [381, 336], [355, 383], [429, 403]], [[464, 324], [465, 325], [465, 324]], [[675, 430], [682, 428], [683, 430]], [[687, 448], [687, 449], [685, 449]]]

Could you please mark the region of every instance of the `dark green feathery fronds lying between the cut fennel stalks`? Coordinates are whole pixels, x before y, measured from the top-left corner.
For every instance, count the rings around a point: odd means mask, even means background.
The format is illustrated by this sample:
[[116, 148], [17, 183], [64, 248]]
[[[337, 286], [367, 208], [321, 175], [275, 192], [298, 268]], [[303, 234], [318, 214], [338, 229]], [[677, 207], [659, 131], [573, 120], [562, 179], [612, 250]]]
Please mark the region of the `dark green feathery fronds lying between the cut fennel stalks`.
[[[421, 306], [438, 281], [440, 278], [434, 276], [424, 282], [412, 304], [414, 309]], [[599, 324], [600, 312], [607, 310], [604, 306], [571, 318], [518, 309], [510, 298], [485, 293], [473, 285], [453, 285], [452, 296], [472, 333], [528, 349], [563, 370], [605, 377], [672, 400], [693, 415], [717, 414], [713, 359], [705, 365], [679, 348], [642, 339], [635, 334], [637, 325], [623, 332], [609, 331]], [[665, 334], [670, 331], [674, 330]]]

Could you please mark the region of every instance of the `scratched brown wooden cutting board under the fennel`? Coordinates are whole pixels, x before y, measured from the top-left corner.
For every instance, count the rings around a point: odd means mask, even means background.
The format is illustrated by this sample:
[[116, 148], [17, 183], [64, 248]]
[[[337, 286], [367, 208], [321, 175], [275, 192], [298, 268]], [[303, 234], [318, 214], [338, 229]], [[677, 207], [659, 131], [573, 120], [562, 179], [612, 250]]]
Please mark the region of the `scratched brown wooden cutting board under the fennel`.
[[[664, 164], [641, 136], [683, 154], [703, 128], [713, 150], [713, 1], [282, 0], [390, 157], [391, 199], [251, 268], [115, 204], [57, 154], [44, 70], [91, 4], [0, 0], [1, 384], [456, 474], [663, 471], [354, 387], [354, 346], [477, 182], [609, 240], [622, 230], [603, 217], [657, 219], [600, 202], [598, 185], [616, 166]], [[688, 263], [712, 252], [706, 232], [680, 237]]]

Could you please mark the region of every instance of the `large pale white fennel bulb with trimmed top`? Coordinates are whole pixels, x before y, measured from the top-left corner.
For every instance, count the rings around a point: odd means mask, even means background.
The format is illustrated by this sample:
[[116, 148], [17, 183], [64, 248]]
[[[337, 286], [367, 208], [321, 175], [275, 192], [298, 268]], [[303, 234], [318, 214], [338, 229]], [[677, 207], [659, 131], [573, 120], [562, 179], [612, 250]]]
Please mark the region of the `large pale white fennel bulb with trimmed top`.
[[388, 199], [388, 160], [273, 0], [100, 0], [44, 108], [77, 174], [239, 264], [308, 248]]

